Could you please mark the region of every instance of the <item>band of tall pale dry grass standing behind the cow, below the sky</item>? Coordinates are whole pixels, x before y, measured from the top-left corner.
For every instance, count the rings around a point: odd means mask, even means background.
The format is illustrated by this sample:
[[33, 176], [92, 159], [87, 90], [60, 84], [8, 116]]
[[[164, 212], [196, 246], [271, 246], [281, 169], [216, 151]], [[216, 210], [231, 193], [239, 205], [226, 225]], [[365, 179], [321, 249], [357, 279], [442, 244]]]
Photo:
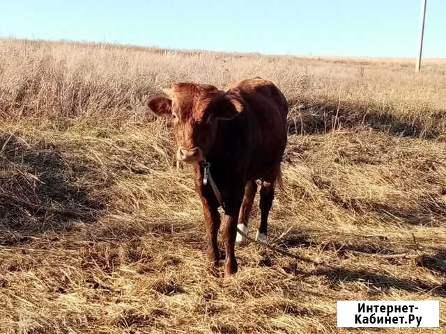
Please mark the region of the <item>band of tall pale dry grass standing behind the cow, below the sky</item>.
[[223, 87], [259, 75], [277, 83], [291, 102], [317, 104], [330, 116], [342, 102], [344, 118], [407, 123], [410, 131], [428, 136], [446, 131], [446, 64], [441, 61], [427, 62], [415, 74], [408, 61], [155, 52], [4, 39], [1, 50], [0, 102], [6, 118], [45, 116], [65, 127], [79, 120], [96, 122], [104, 113], [113, 122], [123, 116], [134, 120], [144, 113], [141, 99], [174, 82]]

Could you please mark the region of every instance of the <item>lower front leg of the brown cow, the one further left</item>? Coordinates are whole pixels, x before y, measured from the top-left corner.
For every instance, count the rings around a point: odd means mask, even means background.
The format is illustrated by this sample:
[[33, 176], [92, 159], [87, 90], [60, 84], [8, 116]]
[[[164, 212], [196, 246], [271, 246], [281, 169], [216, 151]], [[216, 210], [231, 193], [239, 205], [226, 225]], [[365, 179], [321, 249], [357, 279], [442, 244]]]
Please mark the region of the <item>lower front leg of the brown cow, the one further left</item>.
[[206, 255], [211, 267], [217, 267], [220, 261], [218, 250], [218, 229], [220, 228], [220, 213], [217, 207], [211, 207], [206, 200], [203, 204], [204, 223], [206, 225], [207, 250]]

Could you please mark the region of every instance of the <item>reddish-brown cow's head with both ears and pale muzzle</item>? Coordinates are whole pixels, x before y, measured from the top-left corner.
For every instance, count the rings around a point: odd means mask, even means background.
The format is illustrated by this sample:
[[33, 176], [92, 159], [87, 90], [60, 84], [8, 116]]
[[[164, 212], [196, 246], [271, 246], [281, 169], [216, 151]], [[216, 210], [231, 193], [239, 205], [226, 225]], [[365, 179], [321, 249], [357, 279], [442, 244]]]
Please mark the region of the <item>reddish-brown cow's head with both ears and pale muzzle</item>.
[[190, 83], [175, 84], [145, 103], [156, 116], [174, 122], [176, 157], [190, 163], [203, 161], [210, 152], [219, 122], [231, 120], [243, 111], [237, 95], [215, 86]]

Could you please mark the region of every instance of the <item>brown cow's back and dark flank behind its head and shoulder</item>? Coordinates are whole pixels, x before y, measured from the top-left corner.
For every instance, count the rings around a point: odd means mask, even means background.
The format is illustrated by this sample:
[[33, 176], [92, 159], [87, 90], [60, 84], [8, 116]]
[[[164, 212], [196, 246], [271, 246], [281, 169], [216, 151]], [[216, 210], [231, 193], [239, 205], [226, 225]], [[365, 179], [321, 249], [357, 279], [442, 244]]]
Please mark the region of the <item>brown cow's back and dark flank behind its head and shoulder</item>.
[[246, 79], [229, 86], [245, 104], [247, 126], [249, 178], [264, 177], [282, 159], [286, 146], [286, 116], [288, 102], [271, 81]]

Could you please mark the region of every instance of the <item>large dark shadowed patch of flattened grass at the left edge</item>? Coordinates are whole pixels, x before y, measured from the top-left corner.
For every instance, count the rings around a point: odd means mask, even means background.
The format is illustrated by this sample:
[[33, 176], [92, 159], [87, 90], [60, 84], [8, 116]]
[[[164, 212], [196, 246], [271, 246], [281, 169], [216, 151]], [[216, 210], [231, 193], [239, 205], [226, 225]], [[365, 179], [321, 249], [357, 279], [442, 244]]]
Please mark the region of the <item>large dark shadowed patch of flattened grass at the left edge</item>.
[[[61, 148], [0, 135], [0, 228], [42, 233], [70, 230], [73, 221], [93, 223], [103, 205], [93, 189], [77, 185], [82, 161], [63, 157]], [[94, 180], [92, 180], [94, 183]]]

